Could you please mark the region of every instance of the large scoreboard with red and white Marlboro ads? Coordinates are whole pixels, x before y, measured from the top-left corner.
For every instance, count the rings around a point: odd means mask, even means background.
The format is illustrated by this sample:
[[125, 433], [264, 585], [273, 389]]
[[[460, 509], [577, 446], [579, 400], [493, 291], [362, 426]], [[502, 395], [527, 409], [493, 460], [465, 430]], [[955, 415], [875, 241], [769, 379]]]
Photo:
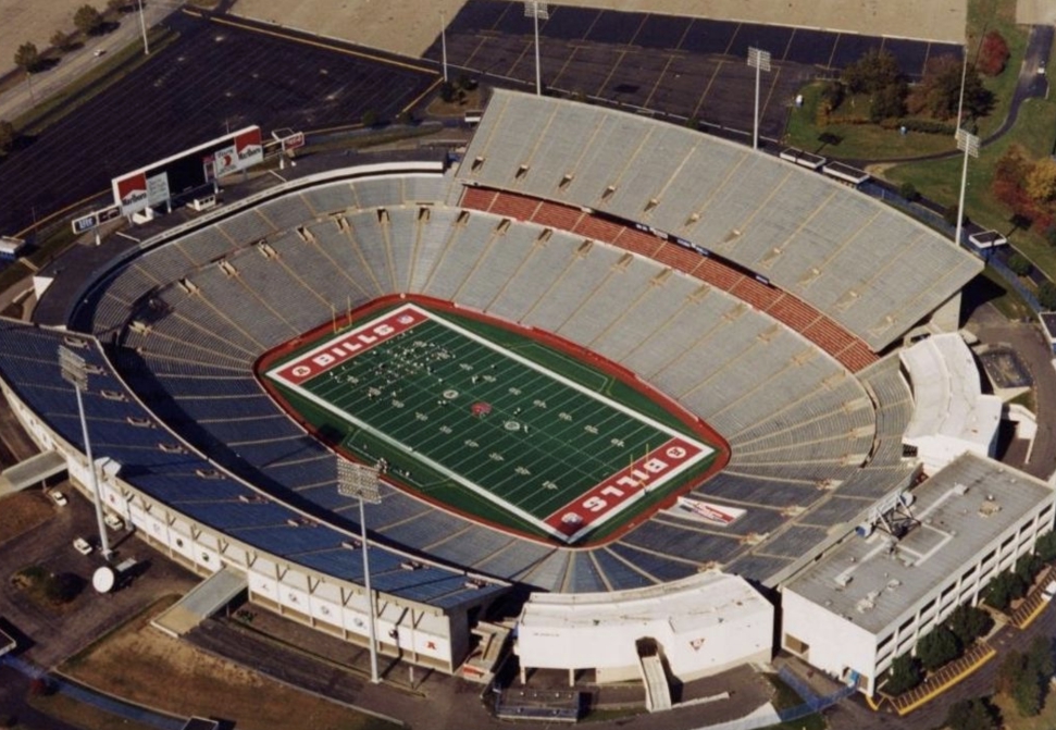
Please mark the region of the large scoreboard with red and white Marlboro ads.
[[114, 203], [123, 215], [132, 215], [263, 159], [260, 127], [248, 126], [113, 178]]

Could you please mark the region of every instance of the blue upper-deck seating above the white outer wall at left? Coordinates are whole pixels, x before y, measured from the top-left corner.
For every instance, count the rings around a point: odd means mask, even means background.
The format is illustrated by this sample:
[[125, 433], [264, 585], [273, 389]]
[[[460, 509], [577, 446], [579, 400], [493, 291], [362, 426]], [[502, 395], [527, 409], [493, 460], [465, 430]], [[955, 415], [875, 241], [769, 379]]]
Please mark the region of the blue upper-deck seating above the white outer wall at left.
[[[201, 524], [252, 547], [332, 576], [352, 581], [362, 579], [358, 554], [341, 547], [351, 540], [348, 534], [306, 519], [300, 512], [225, 477], [207, 459], [189, 451], [125, 388], [94, 339], [0, 320], [0, 351], [4, 352], [0, 376], [61, 438], [84, 449], [75, 393], [62, 379], [59, 368], [60, 346], [84, 358], [87, 366], [84, 406], [94, 456], [109, 457], [122, 465], [124, 481]], [[191, 379], [179, 380], [186, 385]], [[196, 416], [215, 412], [231, 419], [231, 400], [264, 400], [262, 394], [247, 395], [248, 382], [234, 387], [241, 388], [243, 397], [236, 393], [226, 405], [224, 398], [199, 397], [188, 401], [207, 403], [195, 407]], [[283, 426], [274, 431], [264, 426], [262, 431], [258, 425], [253, 432], [273, 433], [283, 437], [283, 443], [297, 441], [289, 437], [297, 433], [290, 421], [268, 420], [282, 421]], [[311, 441], [302, 435], [298, 438]], [[299, 444], [295, 449], [302, 457], [307, 455], [306, 461], [290, 461], [283, 468], [300, 468], [305, 474], [320, 479], [327, 469], [325, 459], [321, 458], [325, 449], [311, 443], [310, 447]], [[266, 460], [274, 458], [273, 453]], [[328, 469], [333, 479], [332, 463]], [[333, 494], [338, 504], [336, 491]], [[347, 504], [344, 498], [339, 499]], [[442, 608], [506, 590], [501, 584], [470, 581], [463, 571], [443, 566], [401, 567], [409, 558], [377, 546], [371, 549], [371, 560], [372, 566], [376, 565], [374, 586], [378, 591]], [[372, 578], [373, 572], [372, 568]]]

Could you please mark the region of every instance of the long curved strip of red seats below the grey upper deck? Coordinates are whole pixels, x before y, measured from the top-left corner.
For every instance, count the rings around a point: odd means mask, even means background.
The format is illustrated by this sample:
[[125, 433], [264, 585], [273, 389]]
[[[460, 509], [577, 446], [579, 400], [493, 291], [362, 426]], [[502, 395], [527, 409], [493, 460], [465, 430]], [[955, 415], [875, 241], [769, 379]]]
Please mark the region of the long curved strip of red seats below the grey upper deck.
[[688, 251], [657, 236], [599, 219], [576, 208], [504, 190], [468, 186], [461, 205], [464, 208], [570, 231], [655, 259], [729, 292], [759, 311], [770, 314], [832, 355], [853, 372], [877, 360], [877, 356], [865, 342], [787, 292], [767, 286], [721, 261]]

